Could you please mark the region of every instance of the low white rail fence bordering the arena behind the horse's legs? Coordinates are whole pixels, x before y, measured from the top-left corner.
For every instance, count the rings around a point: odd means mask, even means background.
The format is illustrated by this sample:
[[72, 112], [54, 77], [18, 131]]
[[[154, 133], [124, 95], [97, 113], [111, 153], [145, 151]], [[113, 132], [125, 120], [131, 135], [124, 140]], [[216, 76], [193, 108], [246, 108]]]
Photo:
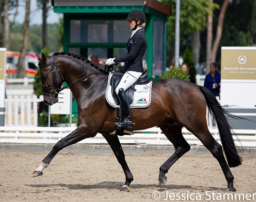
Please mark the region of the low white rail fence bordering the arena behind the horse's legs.
[[[0, 143], [55, 144], [75, 129], [76, 127], [0, 127]], [[209, 130], [221, 144], [218, 129]], [[187, 129], [183, 128], [182, 133], [190, 145], [202, 146]], [[256, 130], [234, 129], [232, 133], [238, 147], [256, 147]], [[158, 127], [134, 131], [134, 135], [120, 136], [119, 140], [122, 144], [172, 145]], [[77, 144], [107, 144], [107, 141], [101, 134], [97, 134], [94, 138], [87, 138]]]

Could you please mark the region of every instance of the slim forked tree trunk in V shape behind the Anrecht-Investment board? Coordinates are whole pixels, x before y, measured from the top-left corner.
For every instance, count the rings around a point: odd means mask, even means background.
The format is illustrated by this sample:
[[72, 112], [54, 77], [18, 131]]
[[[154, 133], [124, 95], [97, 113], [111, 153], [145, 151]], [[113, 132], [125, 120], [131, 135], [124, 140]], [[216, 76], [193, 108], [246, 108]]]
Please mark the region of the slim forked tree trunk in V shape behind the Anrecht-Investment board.
[[[210, 0], [213, 2], [213, 0]], [[222, 6], [221, 6], [221, 12], [219, 14], [219, 19], [218, 19], [218, 25], [217, 25], [217, 30], [216, 30], [216, 37], [213, 42], [212, 46], [212, 41], [213, 41], [213, 11], [211, 10], [211, 14], [208, 15], [208, 25], [207, 25], [207, 43], [206, 43], [206, 68], [207, 72], [210, 72], [210, 64], [211, 62], [216, 61], [216, 55], [217, 55], [217, 50], [219, 48], [219, 44], [221, 41], [221, 35], [222, 35], [222, 30], [223, 30], [223, 22], [224, 22], [224, 17], [226, 14], [226, 10], [228, 8], [229, 0], [224, 0]]]

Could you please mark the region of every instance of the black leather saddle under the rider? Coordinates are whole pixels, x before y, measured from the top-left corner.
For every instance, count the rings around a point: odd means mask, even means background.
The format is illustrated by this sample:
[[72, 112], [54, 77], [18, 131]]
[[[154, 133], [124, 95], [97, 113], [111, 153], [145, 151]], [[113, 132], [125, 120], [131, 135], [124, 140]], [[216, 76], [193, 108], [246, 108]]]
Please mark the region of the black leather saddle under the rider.
[[[112, 72], [113, 76], [111, 77], [110, 80], [110, 86], [111, 86], [111, 94], [115, 100], [116, 103], [119, 103], [119, 99], [117, 98], [117, 94], [115, 93], [115, 89], [117, 88], [117, 85], [120, 83], [122, 76], [124, 75], [123, 70], [118, 70], [116, 72]], [[139, 79], [132, 85], [130, 88], [128, 88], [125, 93], [128, 98], [129, 104], [131, 105], [133, 100], [134, 100], [134, 86], [137, 85], [143, 85], [143, 84], [148, 84], [151, 81], [151, 78], [148, 79], [148, 70], [145, 70], [142, 75], [139, 77]]]

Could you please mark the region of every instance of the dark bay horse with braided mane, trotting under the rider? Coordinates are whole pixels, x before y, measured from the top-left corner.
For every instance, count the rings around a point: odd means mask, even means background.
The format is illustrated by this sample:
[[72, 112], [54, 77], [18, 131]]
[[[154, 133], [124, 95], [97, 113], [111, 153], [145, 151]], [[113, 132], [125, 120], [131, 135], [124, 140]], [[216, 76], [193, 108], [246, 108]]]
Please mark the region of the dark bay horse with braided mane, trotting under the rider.
[[[116, 130], [113, 125], [117, 109], [106, 101], [108, 73], [98, 70], [88, 59], [73, 53], [54, 53], [46, 57], [37, 55], [41, 80], [43, 84], [44, 102], [53, 105], [58, 102], [58, 92], [65, 81], [69, 86], [78, 105], [80, 125], [65, 138], [59, 140], [52, 151], [45, 157], [32, 177], [40, 176], [54, 156], [63, 148], [85, 138], [102, 134], [125, 174], [125, 183], [120, 191], [129, 191], [133, 181], [132, 173], [126, 163], [124, 152], [117, 135], [110, 133]], [[81, 79], [86, 77], [86, 79]], [[78, 82], [77, 82], [78, 81]], [[133, 108], [132, 120], [134, 130], [143, 130], [159, 126], [175, 148], [174, 154], [160, 167], [158, 182], [162, 187], [166, 181], [170, 167], [186, 152], [190, 145], [182, 136], [185, 127], [193, 133], [218, 160], [227, 181], [227, 189], [236, 191], [234, 177], [229, 167], [241, 164], [241, 157], [236, 151], [226, 115], [230, 115], [219, 105], [215, 96], [203, 86], [198, 86], [181, 79], [165, 79], [152, 84], [151, 103], [147, 108]], [[208, 130], [206, 121], [206, 105], [216, 118], [222, 147]], [[210, 168], [209, 168], [210, 169]]]

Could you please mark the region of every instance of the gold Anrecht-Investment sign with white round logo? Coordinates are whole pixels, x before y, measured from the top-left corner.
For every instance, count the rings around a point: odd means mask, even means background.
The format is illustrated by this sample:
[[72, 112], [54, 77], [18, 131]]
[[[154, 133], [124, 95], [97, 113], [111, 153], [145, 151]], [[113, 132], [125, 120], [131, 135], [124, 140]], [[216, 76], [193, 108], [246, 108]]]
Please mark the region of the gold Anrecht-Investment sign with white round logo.
[[222, 47], [221, 79], [256, 79], [256, 47]]

